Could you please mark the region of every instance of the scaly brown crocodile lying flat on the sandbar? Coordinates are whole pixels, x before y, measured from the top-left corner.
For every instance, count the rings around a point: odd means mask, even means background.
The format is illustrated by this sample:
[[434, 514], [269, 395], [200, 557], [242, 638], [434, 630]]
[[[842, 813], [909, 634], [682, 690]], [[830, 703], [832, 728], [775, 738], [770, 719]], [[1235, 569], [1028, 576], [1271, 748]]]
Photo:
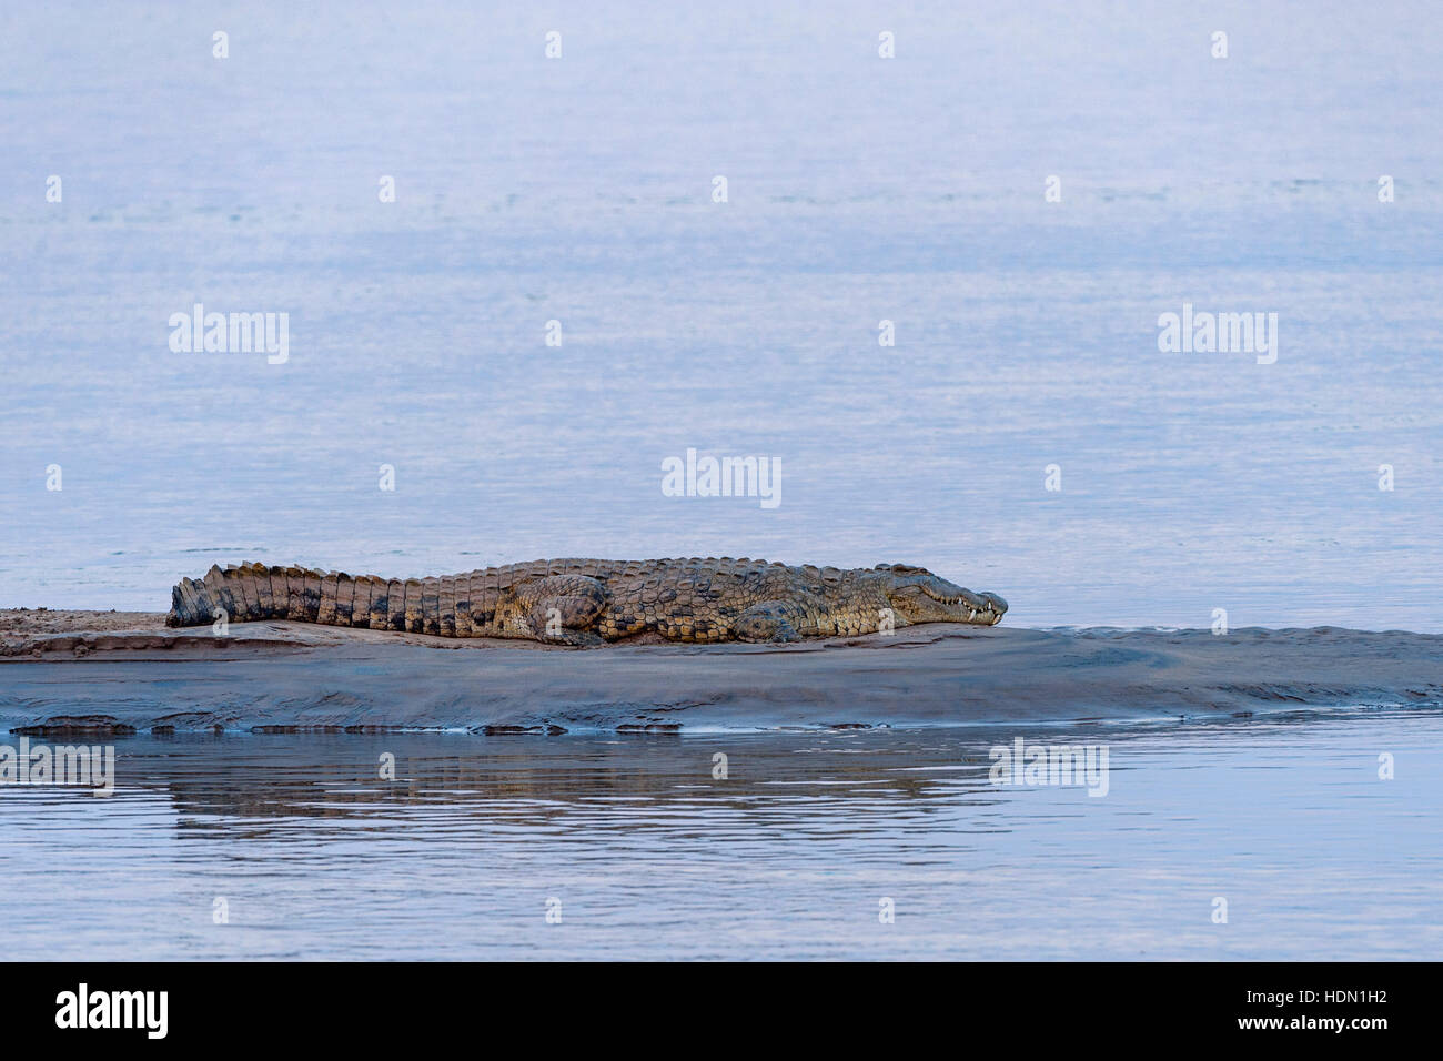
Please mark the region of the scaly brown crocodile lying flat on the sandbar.
[[925, 567], [786, 566], [732, 557], [535, 560], [427, 579], [229, 564], [182, 579], [166, 625], [291, 619], [459, 638], [586, 647], [667, 641], [798, 641], [921, 622], [990, 626], [1007, 611]]

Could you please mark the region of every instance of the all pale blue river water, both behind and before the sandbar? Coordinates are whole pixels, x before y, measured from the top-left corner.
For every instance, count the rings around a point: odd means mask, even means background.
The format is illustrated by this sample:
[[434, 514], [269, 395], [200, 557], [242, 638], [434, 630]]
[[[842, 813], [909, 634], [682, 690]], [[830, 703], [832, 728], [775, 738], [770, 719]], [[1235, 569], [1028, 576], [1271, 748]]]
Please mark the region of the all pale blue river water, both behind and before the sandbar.
[[[1443, 12], [911, 7], [4, 6], [0, 606], [716, 554], [919, 563], [1023, 626], [1443, 631]], [[289, 359], [173, 352], [196, 302], [287, 313]], [[1276, 364], [1160, 352], [1185, 302], [1277, 313]], [[778, 458], [781, 505], [665, 497], [688, 447]], [[48, 928], [12, 957], [1437, 956], [1436, 712], [1110, 739], [1105, 798], [996, 790], [961, 730], [726, 736], [726, 788], [710, 738], [385, 738], [404, 791], [371, 739], [136, 739], [113, 800], [0, 790], [0, 920]]]

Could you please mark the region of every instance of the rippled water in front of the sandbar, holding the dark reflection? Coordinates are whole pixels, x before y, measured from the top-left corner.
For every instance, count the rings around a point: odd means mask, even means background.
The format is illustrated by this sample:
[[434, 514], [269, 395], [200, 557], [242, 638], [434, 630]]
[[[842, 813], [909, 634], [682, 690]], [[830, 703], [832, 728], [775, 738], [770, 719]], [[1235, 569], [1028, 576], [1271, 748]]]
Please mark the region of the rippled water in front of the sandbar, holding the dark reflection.
[[[1108, 791], [988, 749], [1105, 743]], [[118, 745], [0, 788], [12, 959], [1436, 959], [1443, 713]], [[397, 780], [377, 780], [380, 756]], [[713, 756], [730, 777], [713, 780]], [[1378, 755], [1395, 778], [1378, 778]], [[1228, 922], [1214, 924], [1214, 901]], [[228, 924], [215, 924], [216, 898]], [[895, 922], [882, 924], [890, 898]], [[548, 901], [560, 922], [547, 922]], [[553, 905], [553, 909], [556, 907]]]

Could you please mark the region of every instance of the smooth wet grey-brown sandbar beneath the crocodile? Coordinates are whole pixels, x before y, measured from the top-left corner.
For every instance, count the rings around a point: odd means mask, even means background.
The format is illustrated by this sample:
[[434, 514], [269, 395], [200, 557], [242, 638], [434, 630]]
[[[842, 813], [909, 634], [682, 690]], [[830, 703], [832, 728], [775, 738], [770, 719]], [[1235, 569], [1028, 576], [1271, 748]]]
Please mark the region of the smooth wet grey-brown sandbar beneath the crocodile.
[[[139, 616], [139, 618], [137, 618]], [[0, 614], [0, 729], [675, 732], [1225, 716], [1443, 703], [1443, 637], [912, 626], [593, 650], [293, 622]]]

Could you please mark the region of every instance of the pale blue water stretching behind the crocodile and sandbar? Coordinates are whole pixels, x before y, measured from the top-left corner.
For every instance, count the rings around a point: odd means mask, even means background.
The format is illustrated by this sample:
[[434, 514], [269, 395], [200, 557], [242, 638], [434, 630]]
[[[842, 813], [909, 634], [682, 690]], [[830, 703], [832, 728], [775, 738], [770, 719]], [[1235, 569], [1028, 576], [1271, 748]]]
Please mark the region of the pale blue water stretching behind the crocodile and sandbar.
[[[9, 4], [0, 605], [700, 553], [1443, 629], [1436, 4], [779, 7]], [[173, 354], [195, 302], [289, 362]], [[1277, 364], [1160, 354], [1183, 302]]]

